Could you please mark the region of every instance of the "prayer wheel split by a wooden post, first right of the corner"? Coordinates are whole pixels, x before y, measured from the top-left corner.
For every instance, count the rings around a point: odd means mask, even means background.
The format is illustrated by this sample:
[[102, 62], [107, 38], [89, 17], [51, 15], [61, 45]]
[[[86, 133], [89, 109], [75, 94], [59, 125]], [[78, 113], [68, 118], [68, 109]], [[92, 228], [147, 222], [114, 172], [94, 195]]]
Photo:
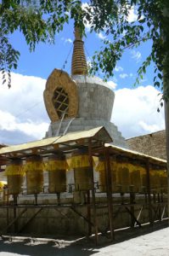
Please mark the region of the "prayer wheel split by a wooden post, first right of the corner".
[[[99, 172], [99, 191], [107, 191], [106, 172], [104, 158], [99, 158], [99, 164], [96, 166], [96, 172]], [[117, 192], [116, 186], [116, 165], [115, 160], [110, 160], [110, 174], [111, 174], [111, 189], [112, 192]]]

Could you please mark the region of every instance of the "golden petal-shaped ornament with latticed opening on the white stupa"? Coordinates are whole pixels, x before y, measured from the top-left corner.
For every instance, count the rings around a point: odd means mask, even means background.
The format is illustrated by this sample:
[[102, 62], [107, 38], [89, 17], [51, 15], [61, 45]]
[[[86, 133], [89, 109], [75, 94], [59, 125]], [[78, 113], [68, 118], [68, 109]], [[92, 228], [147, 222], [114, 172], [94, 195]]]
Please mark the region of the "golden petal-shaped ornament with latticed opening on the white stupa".
[[43, 97], [52, 122], [62, 118], [76, 117], [78, 112], [77, 87], [68, 73], [54, 69], [48, 77]]

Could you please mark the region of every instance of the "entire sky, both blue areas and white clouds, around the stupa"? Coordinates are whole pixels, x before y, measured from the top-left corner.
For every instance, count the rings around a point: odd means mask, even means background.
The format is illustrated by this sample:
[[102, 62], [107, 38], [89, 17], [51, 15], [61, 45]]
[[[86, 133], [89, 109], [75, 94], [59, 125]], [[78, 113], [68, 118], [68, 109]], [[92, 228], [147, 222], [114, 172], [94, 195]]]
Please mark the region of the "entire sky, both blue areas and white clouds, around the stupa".
[[[130, 19], [136, 18], [131, 11]], [[87, 61], [103, 44], [103, 33], [88, 32], [84, 38]], [[20, 32], [14, 32], [10, 40], [20, 51], [18, 69], [12, 73], [12, 88], [0, 87], [0, 143], [15, 144], [40, 139], [45, 136], [50, 120], [44, 108], [42, 92], [46, 79], [54, 68], [63, 68], [70, 73], [73, 49], [73, 22], [65, 25], [64, 31], [55, 38], [55, 44], [38, 44], [31, 52]], [[118, 126], [124, 137], [135, 137], [164, 129], [164, 113], [160, 96], [153, 84], [153, 67], [149, 67], [141, 86], [133, 88], [138, 67], [149, 54], [151, 43], [138, 49], [128, 49], [115, 67], [115, 76], [110, 79], [115, 91], [115, 104], [111, 121]], [[70, 54], [70, 55], [69, 55]], [[67, 56], [69, 58], [67, 59]], [[98, 74], [103, 78], [103, 73]]]

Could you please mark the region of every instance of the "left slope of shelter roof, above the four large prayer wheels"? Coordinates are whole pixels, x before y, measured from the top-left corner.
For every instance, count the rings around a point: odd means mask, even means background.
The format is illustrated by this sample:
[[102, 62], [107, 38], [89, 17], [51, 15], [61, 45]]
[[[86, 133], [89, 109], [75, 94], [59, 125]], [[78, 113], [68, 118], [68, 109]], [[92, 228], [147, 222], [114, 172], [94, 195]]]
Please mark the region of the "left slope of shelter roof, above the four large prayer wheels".
[[28, 154], [48, 154], [54, 150], [66, 151], [70, 149], [87, 146], [89, 140], [94, 144], [112, 142], [109, 133], [103, 126], [88, 131], [76, 131], [64, 136], [44, 138], [31, 143], [0, 148], [0, 157], [24, 157]]

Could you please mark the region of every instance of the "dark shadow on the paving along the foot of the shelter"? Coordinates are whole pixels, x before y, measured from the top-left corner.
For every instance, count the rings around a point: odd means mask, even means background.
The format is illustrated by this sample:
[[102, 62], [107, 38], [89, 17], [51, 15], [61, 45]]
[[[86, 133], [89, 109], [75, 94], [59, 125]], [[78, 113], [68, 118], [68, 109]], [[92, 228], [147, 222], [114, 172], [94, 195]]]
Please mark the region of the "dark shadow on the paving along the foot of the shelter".
[[[89, 256], [94, 253], [99, 253], [100, 247], [106, 247], [110, 244], [127, 241], [134, 237], [144, 236], [156, 230], [161, 230], [168, 227], [168, 220], [158, 222], [152, 227], [145, 225], [142, 228], [116, 230], [115, 240], [110, 242], [104, 236], [99, 236], [99, 246], [95, 246], [94, 236], [90, 239], [82, 237], [76, 239], [52, 239], [52, 238], [32, 238], [21, 236], [2, 236], [0, 239], [0, 256], [13, 255], [10, 253], [17, 253], [19, 255], [29, 256]], [[14, 254], [15, 255], [15, 254]]]

